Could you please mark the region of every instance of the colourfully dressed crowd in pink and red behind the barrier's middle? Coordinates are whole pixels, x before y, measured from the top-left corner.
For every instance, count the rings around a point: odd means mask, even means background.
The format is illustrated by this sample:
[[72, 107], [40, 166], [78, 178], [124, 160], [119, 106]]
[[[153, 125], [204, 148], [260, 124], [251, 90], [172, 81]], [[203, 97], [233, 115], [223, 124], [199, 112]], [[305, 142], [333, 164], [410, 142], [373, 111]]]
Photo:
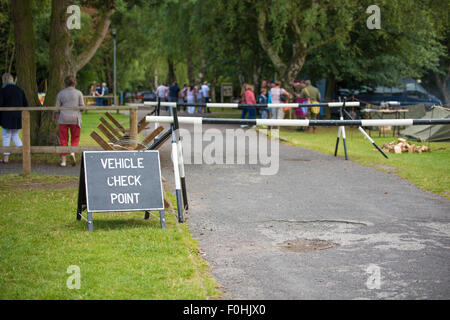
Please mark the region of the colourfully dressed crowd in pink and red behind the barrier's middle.
[[[240, 104], [282, 104], [290, 101], [304, 104], [304, 103], [319, 103], [321, 100], [319, 90], [311, 84], [310, 80], [294, 80], [292, 85], [293, 96], [284, 88], [281, 87], [281, 82], [278, 80], [267, 81], [261, 83], [261, 90], [258, 98], [255, 98], [254, 86], [244, 84], [241, 91]], [[284, 108], [260, 108], [261, 119], [283, 119], [285, 116]], [[287, 110], [287, 108], [286, 108]], [[256, 119], [256, 108], [245, 107], [242, 108], [241, 119], [245, 119], [248, 114], [249, 119]], [[320, 107], [299, 107], [295, 110], [297, 118], [317, 119], [320, 113]], [[316, 133], [316, 127], [312, 127], [313, 132]], [[309, 127], [307, 129], [309, 131]]]

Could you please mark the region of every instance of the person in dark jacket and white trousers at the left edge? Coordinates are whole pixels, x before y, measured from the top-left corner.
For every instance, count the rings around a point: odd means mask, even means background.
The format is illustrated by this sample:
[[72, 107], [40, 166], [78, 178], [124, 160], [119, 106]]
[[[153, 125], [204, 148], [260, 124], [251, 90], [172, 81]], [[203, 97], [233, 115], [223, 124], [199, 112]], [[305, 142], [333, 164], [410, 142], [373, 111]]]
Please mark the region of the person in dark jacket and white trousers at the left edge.
[[[2, 76], [3, 88], [0, 89], [0, 107], [28, 107], [25, 92], [14, 84], [11, 74], [5, 73]], [[11, 140], [16, 147], [22, 146], [19, 131], [22, 129], [21, 111], [1, 111], [0, 125], [3, 128], [3, 146], [9, 147]], [[3, 154], [2, 163], [9, 162], [9, 152]]]

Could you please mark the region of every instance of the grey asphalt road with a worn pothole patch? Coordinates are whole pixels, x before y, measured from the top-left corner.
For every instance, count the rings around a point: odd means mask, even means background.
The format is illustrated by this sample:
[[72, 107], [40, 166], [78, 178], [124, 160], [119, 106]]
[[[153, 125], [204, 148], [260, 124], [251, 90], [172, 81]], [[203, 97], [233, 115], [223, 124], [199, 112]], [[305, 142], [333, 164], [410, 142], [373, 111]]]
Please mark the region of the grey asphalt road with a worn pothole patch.
[[[161, 159], [173, 192], [170, 143]], [[187, 223], [225, 299], [450, 298], [450, 201], [283, 144], [278, 173], [261, 167], [186, 165]], [[17, 171], [20, 164], [0, 166], [0, 174]], [[33, 171], [78, 175], [79, 167]]]

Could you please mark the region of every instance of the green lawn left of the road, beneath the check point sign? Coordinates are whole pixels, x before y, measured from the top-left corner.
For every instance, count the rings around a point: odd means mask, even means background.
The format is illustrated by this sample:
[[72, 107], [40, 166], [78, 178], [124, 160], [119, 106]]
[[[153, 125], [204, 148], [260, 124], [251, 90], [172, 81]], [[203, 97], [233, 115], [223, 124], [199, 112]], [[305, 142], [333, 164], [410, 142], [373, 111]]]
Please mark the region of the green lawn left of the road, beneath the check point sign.
[[[0, 175], [0, 299], [206, 299], [215, 280], [174, 212], [94, 213], [76, 220], [76, 178]], [[67, 188], [61, 188], [67, 186]], [[173, 200], [173, 196], [172, 200]], [[67, 268], [81, 270], [70, 290]]]

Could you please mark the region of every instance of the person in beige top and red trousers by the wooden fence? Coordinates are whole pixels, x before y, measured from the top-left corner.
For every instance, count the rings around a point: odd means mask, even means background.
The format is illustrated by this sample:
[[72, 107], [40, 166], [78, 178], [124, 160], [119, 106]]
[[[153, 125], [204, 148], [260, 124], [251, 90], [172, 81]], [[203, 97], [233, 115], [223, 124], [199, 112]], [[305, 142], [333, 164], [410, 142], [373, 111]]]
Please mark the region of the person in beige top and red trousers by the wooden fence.
[[[58, 92], [56, 96], [56, 107], [83, 107], [84, 99], [83, 93], [80, 90], [75, 89], [77, 84], [74, 76], [67, 76], [64, 79], [66, 88]], [[69, 131], [70, 131], [70, 145], [72, 147], [78, 146], [80, 142], [81, 134], [81, 111], [80, 110], [62, 110], [57, 113], [53, 113], [53, 120], [58, 120], [59, 127], [59, 142], [61, 146], [68, 146]], [[61, 154], [61, 167], [66, 166], [67, 153]], [[71, 153], [72, 165], [75, 166], [76, 158], [75, 153]]]

